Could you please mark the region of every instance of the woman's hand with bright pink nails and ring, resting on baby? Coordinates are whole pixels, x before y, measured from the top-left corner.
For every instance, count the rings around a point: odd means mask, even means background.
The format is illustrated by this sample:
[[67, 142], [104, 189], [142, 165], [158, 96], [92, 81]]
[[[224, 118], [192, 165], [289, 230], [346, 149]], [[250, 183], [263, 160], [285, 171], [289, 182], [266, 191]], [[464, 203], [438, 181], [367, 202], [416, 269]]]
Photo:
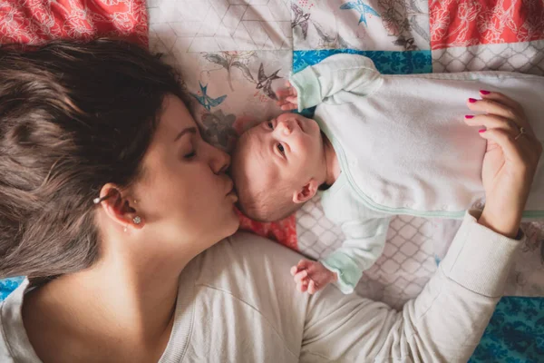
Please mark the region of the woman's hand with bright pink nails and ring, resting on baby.
[[487, 140], [481, 179], [486, 194], [478, 222], [493, 231], [515, 237], [529, 196], [542, 145], [536, 139], [519, 103], [502, 93], [481, 91], [481, 100], [469, 99], [465, 122], [485, 126]]

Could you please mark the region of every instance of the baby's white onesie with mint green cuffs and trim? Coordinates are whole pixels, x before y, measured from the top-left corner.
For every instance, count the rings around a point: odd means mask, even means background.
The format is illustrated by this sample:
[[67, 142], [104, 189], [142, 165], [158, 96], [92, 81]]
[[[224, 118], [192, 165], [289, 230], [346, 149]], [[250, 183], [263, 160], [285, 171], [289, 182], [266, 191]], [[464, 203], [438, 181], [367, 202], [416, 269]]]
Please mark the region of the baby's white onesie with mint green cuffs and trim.
[[[336, 54], [293, 74], [299, 111], [332, 142], [341, 178], [323, 192], [328, 218], [346, 234], [322, 262], [350, 292], [381, 255], [393, 214], [461, 218], [484, 202], [481, 163], [486, 141], [464, 123], [469, 97], [499, 91], [519, 102], [544, 140], [544, 77], [474, 72], [383, 75], [362, 55]], [[522, 136], [523, 137], [523, 136]], [[544, 166], [539, 162], [524, 217], [544, 218]], [[354, 205], [357, 204], [355, 208]], [[351, 207], [350, 207], [351, 205]]]

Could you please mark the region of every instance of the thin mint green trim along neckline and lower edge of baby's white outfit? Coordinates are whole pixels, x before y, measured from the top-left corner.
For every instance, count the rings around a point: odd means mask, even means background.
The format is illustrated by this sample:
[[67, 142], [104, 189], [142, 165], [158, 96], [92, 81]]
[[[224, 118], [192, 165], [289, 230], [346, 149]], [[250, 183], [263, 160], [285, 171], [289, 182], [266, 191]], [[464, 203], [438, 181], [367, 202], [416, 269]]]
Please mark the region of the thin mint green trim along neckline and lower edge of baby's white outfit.
[[[344, 148], [342, 147], [340, 142], [336, 140], [335, 136], [332, 134], [332, 132], [330, 132], [328, 127], [325, 125], [325, 123], [322, 123], [318, 119], [316, 119], [316, 122], [319, 124], [319, 127], [321, 128], [321, 130], [325, 132], [325, 135], [329, 139], [329, 141], [333, 144], [333, 147], [335, 148], [336, 156], [338, 157], [338, 161], [340, 162], [342, 173], [345, 173], [345, 177], [347, 178], [347, 181], [354, 188], [354, 190], [357, 192], [359, 197], [361, 197], [366, 207], [374, 211], [381, 211], [388, 214], [408, 214], [408, 215], [413, 215], [415, 217], [427, 217], [427, 218], [440, 217], [440, 218], [451, 218], [456, 220], [461, 220], [464, 217], [465, 211], [414, 211], [414, 210], [406, 209], [406, 208], [389, 208], [389, 207], [385, 207], [384, 205], [375, 203], [366, 194], [364, 194], [364, 192], [359, 188], [353, 176], [349, 172], [349, 168], [347, 166], [347, 160], [346, 160], [347, 158], [345, 156]], [[544, 218], [544, 211], [523, 211], [522, 217], [529, 218], [529, 219]]]

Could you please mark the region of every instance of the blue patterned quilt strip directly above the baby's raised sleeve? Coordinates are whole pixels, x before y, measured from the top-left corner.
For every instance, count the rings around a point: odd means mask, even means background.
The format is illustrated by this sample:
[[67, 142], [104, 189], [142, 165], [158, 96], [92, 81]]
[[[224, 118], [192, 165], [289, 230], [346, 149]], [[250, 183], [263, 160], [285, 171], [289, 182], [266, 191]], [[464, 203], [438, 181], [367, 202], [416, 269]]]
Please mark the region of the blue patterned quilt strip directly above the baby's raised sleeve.
[[386, 52], [356, 51], [353, 49], [325, 49], [316, 51], [294, 51], [293, 72], [300, 72], [308, 65], [323, 61], [338, 53], [361, 54], [373, 60], [382, 74], [430, 74], [432, 73], [431, 51]]

